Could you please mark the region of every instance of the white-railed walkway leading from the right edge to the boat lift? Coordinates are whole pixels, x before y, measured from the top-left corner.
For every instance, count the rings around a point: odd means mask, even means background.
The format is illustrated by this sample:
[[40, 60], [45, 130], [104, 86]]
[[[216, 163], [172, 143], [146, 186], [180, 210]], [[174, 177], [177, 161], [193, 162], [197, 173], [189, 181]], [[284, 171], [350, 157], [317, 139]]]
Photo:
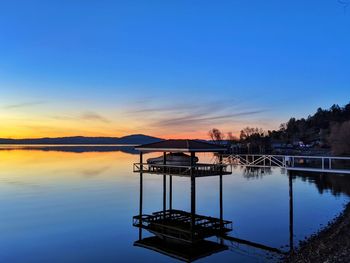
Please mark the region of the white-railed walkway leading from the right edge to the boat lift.
[[292, 171], [350, 174], [350, 157], [233, 154], [225, 158], [225, 163], [256, 168], [280, 167]]

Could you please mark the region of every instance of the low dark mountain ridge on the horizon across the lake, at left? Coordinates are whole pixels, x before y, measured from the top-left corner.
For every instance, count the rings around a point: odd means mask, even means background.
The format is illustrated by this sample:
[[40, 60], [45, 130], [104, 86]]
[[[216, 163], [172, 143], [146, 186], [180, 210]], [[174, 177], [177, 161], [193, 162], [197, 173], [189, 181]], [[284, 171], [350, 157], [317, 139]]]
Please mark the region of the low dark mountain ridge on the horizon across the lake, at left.
[[143, 135], [132, 134], [124, 137], [58, 137], [38, 139], [2, 139], [0, 144], [146, 144], [159, 142], [162, 139]]

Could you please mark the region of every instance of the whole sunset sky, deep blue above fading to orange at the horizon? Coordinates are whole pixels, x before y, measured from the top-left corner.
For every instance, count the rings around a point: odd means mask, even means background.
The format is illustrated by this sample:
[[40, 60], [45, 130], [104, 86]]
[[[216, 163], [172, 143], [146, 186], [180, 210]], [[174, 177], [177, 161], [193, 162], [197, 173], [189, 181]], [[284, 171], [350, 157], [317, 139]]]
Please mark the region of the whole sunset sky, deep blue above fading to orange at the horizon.
[[208, 139], [350, 102], [350, 0], [0, 0], [0, 137]]

